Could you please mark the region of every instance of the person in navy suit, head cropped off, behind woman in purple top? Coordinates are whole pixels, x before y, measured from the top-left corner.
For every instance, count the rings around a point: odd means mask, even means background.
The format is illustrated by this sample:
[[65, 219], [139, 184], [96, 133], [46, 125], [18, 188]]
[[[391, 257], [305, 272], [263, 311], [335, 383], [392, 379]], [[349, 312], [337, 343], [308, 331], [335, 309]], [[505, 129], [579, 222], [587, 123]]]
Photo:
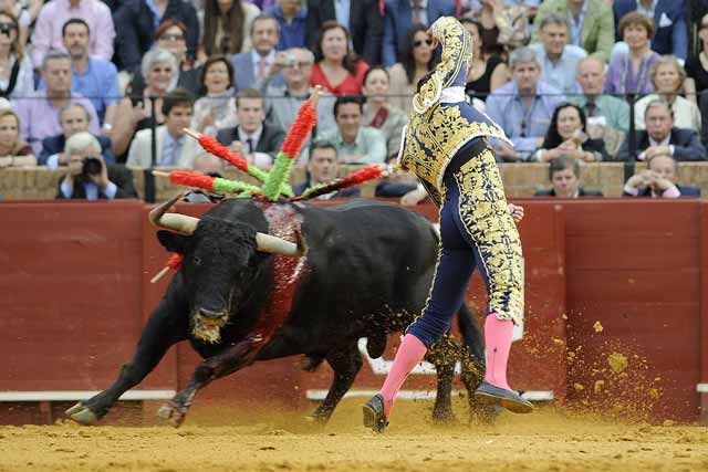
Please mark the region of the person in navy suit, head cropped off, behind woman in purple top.
[[[652, 51], [673, 54], [681, 61], [688, 53], [688, 29], [684, 2], [675, 0], [615, 0], [613, 4], [615, 24], [631, 11], [638, 11], [654, 19], [656, 33], [652, 39]], [[616, 32], [617, 41], [622, 41]]]

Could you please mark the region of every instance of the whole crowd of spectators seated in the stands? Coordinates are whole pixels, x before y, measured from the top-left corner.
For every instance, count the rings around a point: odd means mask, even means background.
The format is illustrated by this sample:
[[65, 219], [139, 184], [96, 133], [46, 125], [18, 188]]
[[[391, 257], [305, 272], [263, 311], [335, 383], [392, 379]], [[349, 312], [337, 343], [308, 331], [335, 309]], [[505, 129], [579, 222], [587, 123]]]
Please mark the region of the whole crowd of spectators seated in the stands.
[[[127, 168], [223, 168], [192, 128], [269, 169], [321, 86], [304, 191], [396, 158], [441, 15], [473, 40], [468, 99], [514, 145], [498, 159], [551, 164], [539, 195], [598, 196], [581, 186], [597, 161], [645, 162], [626, 196], [698, 195], [675, 170], [708, 160], [708, 0], [6, 0], [0, 168], [66, 167], [58, 198], [135, 197]], [[377, 195], [425, 197], [404, 172]]]

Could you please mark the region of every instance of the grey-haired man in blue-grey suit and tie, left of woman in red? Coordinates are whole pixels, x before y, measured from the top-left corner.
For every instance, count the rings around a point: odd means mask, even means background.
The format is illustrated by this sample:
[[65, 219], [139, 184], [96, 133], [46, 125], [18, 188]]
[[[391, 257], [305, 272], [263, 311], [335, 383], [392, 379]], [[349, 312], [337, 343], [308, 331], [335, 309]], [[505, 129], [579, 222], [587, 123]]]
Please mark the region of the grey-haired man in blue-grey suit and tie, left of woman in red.
[[282, 64], [275, 64], [275, 46], [280, 40], [280, 25], [275, 17], [256, 17], [251, 23], [250, 35], [253, 49], [231, 56], [231, 65], [236, 71], [236, 90], [260, 88], [266, 80], [272, 85], [282, 85]]

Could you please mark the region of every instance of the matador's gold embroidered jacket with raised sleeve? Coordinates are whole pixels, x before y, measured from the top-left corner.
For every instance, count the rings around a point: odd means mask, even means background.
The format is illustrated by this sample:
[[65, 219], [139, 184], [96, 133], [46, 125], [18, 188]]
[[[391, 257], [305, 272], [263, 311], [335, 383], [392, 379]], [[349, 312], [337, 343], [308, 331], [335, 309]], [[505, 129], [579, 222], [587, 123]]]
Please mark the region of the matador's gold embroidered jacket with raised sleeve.
[[[469, 33], [452, 17], [439, 18], [430, 30], [442, 48], [441, 61], [413, 98], [413, 112], [403, 132], [398, 164], [413, 170], [429, 193], [437, 193], [447, 165], [469, 140], [493, 136], [509, 145], [511, 141], [499, 125], [464, 98], [455, 103], [440, 101], [446, 88], [462, 87], [464, 91], [472, 60], [472, 44]], [[437, 196], [431, 197], [438, 200]]]

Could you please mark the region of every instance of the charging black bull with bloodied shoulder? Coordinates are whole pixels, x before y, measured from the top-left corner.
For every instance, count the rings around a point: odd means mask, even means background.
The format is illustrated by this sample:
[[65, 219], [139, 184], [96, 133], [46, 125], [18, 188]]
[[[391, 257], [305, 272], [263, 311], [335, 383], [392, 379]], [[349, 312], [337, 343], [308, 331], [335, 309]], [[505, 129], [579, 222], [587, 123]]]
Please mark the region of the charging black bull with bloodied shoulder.
[[[229, 199], [198, 223], [192, 219], [196, 229], [189, 235], [158, 232], [163, 245], [183, 254], [180, 270], [147, 321], [133, 359], [108, 389], [70, 408], [66, 413], [72, 419], [96, 422], [157, 366], [171, 345], [189, 339], [204, 360], [187, 387], [160, 409], [160, 416], [173, 424], [184, 421], [197, 390], [212, 380], [256, 360], [293, 355], [306, 356], [308, 368], [326, 360], [334, 370], [326, 398], [312, 415], [316, 421], [327, 421], [362, 367], [357, 340], [367, 337], [368, 354], [379, 357], [386, 335], [405, 329], [420, 313], [435, 271], [438, 237], [425, 218], [383, 202], [354, 200], [327, 208], [279, 203], [273, 208], [300, 221], [298, 235], [308, 252], [288, 313], [280, 323], [270, 321], [277, 326], [266, 326], [273, 328], [272, 336], [263, 338], [254, 326], [263, 328], [262, 307], [281, 290], [273, 286], [273, 261], [283, 256], [261, 252], [256, 242], [257, 232], [273, 230], [263, 206]], [[437, 420], [451, 418], [456, 361], [461, 360], [470, 399], [483, 374], [479, 326], [466, 307], [458, 322], [465, 345], [446, 335], [427, 354], [438, 377], [433, 412]], [[472, 410], [478, 408], [471, 401]]]

